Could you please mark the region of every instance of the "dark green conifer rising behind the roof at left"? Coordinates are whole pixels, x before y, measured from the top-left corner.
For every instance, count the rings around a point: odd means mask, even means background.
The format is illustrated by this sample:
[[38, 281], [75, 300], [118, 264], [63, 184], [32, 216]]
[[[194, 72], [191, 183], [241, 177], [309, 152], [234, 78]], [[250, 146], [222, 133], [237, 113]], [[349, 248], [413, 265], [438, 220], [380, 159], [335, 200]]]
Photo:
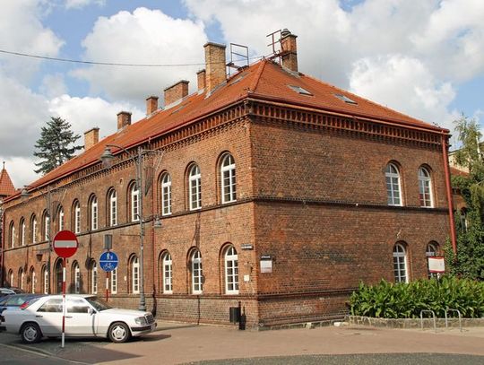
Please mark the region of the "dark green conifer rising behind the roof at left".
[[50, 117], [47, 126], [42, 126], [40, 138], [35, 144], [34, 156], [42, 159], [35, 165], [39, 167], [35, 172], [47, 174], [65, 161], [73, 157], [74, 152], [82, 149], [80, 145], [73, 145], [81, 135], [74, 135], [71, 125], [62, 117]]

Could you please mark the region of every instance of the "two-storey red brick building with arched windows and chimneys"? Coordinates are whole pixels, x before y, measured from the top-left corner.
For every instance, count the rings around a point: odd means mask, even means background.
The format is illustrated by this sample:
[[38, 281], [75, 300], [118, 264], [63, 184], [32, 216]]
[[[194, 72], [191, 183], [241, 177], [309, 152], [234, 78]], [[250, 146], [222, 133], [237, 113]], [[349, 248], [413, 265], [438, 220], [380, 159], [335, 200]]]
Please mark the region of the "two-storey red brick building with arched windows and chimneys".
[[[289, 32], [281, 53], [230, 77], [225, 47], [204, 48], [197, 92], [176, 83], [134, 124], [120, 112], [117, 133], [99, 141], [92, 129], [29, 198], [6, 199], [6, 280], [59, 291], [48, 240], [63, 228], [80, 242], [69, 291], [104, 294], [111, 234], [109, 300], [135, 308], [144, 288], [169, 319], [228, 323], [239, 302], [249, 326], [341, 317], [360, 281], [428, 277], [429, 250], [449, 236], [448, 131], [299, 73]], [[108, 144], [130, 152], [110, 147], [111, 169], [99, 161]], [[144, 156], [141, 189], [138, 147], [162, 152]]]

